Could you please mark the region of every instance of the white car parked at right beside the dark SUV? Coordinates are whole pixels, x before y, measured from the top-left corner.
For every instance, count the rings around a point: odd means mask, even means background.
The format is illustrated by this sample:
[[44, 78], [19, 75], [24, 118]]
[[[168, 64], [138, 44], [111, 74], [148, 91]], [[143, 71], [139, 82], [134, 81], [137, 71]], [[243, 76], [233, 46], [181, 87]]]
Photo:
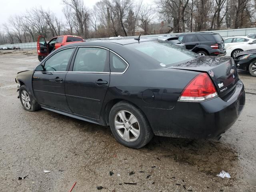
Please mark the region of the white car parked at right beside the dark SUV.
[[225, 56], [235, 58], [240, 52], [251, 49], [256, 49], [256, 40], [249, 40], [243, 44], [228, 47]]

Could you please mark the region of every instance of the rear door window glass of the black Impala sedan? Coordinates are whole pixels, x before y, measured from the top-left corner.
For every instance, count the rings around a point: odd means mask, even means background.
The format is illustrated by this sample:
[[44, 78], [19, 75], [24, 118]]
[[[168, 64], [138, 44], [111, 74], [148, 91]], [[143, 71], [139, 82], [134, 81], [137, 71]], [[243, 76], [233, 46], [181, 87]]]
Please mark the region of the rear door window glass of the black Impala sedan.
[[73, 66], [74, 72], [109, 72], [108, 50], [95, 47], [79, 48]]

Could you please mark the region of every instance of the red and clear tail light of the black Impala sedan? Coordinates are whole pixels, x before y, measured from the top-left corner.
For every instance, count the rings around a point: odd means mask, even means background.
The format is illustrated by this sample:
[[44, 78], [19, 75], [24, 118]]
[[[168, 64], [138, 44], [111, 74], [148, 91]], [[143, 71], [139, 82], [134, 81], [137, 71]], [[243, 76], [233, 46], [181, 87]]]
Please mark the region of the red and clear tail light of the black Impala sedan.
[[207, 73], [200, 73], [184, 88], [179, 101], [204, 101], [218, 96]]

